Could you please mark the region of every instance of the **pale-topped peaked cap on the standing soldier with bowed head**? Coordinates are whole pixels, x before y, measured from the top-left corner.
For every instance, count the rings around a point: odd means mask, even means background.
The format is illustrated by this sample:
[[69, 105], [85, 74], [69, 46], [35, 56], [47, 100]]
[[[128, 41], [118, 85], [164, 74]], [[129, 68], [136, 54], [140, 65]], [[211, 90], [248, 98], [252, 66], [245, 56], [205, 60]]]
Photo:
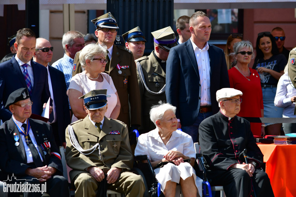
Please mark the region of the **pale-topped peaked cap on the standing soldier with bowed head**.
[[170, 26], [151, 32], [151, 34], [154, 37], [154, 42], [167, 50], [178, 45], [176, 35]]

